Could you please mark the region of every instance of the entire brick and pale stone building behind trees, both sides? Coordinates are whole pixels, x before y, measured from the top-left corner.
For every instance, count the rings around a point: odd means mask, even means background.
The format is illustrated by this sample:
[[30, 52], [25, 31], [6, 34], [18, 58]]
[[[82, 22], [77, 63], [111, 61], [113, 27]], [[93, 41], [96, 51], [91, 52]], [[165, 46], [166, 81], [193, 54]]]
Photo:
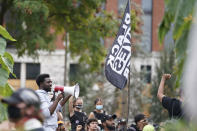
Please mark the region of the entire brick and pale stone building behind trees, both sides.
[[[164, 14], [164, 0], [131, 0], [137, 3], [143, 9], [143, 35], [139, 43], [141, 49], [148, 54], [144, 58], [134, 58], [132, 63], [137, 70], [146, 69], [149, 72], [148, 81], [151, 81], [151, 76], [154, 75], [155, 63], [157, 63], [158, 52], [163, 49], [159, 45], [157, 39], [158, 25], [162, 20]], [[113, 12], [115, 16], [119, 16], [124, 10], [127, 0], [107, 0], [105, 9]], [[110, 47], [113, 38], [105, 40], [105, 46]], [[10, 50], [14, 57], [15, 68], [14, 73], [18, 79], [10, 79], [9, 82], [15, 88], [29, 87], [38, 88], [35, 83], [35, 77], [40, 73], [49, 73], [55, 83], [64, 84], [64, 41], [63, 36], [59, 35], [56, 38], [56, 51], [52, 53], [40, 52], [38, 59], [34, 60], [27, 56], [18, 58], [14, 50]], [[69, 59], [71, 65], [76, 63], [76, 60]], [[55, 67], [55, 68], [54, 68]], [[72, 66], [69, 66], [72, 68]], [[58, 75], [57, 75], [58, 74]]]

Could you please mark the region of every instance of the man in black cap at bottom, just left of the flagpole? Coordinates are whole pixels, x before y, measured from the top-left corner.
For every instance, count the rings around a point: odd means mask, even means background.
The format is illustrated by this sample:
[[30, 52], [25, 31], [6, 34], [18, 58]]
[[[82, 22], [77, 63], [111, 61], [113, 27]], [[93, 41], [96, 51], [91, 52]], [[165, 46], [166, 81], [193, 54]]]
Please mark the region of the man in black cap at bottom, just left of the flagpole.
[[103, 121], [103, 131], [115, 131], [115, 122], [116, 115], [105, 115], [105, 119]]

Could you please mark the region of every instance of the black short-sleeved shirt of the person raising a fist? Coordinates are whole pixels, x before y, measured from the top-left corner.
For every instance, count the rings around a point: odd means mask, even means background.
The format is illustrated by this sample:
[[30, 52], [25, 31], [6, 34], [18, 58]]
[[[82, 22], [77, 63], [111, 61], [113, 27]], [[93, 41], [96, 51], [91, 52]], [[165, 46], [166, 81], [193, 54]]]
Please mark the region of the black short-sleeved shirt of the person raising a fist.
[[168, 110], [170, 118], [182, 118], [182, 102], [176, 98], [164, 96], [162, 98], [162, 106]]

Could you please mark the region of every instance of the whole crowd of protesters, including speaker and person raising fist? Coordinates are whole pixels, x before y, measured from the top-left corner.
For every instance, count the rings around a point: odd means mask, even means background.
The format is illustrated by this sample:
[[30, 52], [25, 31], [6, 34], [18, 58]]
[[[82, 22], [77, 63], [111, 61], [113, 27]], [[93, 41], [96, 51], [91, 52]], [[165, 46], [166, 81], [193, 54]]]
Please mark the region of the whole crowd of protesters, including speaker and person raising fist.
[[[165, 81], [170, 74], [162, 76], [157, 97], [163, 107], [167, 109], [170, 118], [184, 117], [182, 101], [164, 95]], [[48, 74], [40, 74], [36, 83], [39, 87], [34, 91], [20, 88], [10, 97], [1, 99], [8, 105], [7, 112], [12, 126], [0, 130], [16, 131], [155, 131], [155, 127], [148, 123], [144, 114], [136, 114], [134, 123], [127, 126], [126, 119], [117, 118], [115, 114], [108, 114], [103, 108], [103, 101], [97, 98], [95, 109], [87, 115], [83, 111], [83, 99], [67, 97], [59, 93], [50, 97], [48, 92], [52, 88], [52, 80]], [[68, 112], [70, 122], [66, 124], [62, 115], [62, 107], [69, 101]]]

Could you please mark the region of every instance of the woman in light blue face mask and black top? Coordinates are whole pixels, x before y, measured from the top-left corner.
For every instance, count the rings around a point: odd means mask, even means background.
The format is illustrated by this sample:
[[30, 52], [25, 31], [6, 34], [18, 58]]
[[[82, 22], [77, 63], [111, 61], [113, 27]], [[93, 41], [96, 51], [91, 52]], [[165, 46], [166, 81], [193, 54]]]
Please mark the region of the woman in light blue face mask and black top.
[[96, 118], [98, 120], [98, 125], [101, 129], [103, 129], [102, 121], [104, 120], [104, 117], [106, 115], [106, 112], [103, 110], [103, 102], [101, 98], [97, 98], [94, 101], [95, 104], [95, 110], [93, 112], [90, 112], [89, 119]]

